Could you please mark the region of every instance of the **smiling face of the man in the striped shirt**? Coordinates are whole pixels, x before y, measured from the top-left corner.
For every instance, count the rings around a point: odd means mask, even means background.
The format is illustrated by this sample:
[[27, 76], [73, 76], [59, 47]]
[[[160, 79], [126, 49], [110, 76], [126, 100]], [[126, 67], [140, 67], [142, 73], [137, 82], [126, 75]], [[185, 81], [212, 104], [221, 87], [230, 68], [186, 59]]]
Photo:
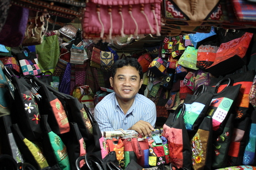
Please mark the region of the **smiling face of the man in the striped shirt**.
[[110, 85], [116, 92], [117, 101], [134, 100], [142, 84], [139, 71], [133, 66], [123, 66], [116, 69], [114, 78], [110, 78]]

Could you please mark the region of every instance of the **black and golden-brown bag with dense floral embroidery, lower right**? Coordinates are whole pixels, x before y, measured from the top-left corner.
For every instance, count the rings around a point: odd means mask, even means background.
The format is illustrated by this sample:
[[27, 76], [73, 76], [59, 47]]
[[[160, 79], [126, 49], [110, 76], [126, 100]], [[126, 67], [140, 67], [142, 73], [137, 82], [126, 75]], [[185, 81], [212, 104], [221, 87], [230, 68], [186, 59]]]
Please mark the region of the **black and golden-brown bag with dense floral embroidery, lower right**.
[[204, 117], [198, 131], [191, 139], [193, 169], [211, 169], [211, 148], [213, 142], [212, 119]]

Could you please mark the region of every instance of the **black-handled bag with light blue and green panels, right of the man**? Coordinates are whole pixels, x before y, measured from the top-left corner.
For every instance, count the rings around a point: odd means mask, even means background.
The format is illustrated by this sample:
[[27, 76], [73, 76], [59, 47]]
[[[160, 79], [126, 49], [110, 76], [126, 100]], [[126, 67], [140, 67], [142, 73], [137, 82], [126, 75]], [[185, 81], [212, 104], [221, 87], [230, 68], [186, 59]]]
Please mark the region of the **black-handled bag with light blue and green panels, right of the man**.
[[184, 122], [186, 130], [197, 131], [208, 111], [213, 94], [206, 92], [206, 86], [201, 85], [193, 95], [186, 95]]

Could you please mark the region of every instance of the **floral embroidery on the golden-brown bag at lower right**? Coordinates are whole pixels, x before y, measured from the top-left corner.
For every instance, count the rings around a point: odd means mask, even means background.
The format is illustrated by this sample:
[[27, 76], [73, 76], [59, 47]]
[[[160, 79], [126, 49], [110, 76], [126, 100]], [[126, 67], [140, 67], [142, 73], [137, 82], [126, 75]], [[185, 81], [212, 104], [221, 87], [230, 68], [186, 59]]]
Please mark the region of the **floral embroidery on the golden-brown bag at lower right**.
[[194, 165], [195, 163], [200, 163], [202, 161], [202, 157], [204, 156], [204, 154], [202, 150], [202, 143], [200, 140], [199, 133], [196, 133], [192, 139], [191, 151], [192, 164]]

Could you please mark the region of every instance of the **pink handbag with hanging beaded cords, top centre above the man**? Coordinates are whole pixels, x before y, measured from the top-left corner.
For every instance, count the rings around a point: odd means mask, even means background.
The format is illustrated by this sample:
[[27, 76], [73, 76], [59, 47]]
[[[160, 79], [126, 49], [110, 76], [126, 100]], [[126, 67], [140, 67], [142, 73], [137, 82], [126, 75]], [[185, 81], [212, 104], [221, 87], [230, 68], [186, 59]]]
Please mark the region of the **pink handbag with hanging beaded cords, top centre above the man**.
[[83, 38], [104, 35], [160, 35], [162, 0], [89, 0], [83, 14]]

